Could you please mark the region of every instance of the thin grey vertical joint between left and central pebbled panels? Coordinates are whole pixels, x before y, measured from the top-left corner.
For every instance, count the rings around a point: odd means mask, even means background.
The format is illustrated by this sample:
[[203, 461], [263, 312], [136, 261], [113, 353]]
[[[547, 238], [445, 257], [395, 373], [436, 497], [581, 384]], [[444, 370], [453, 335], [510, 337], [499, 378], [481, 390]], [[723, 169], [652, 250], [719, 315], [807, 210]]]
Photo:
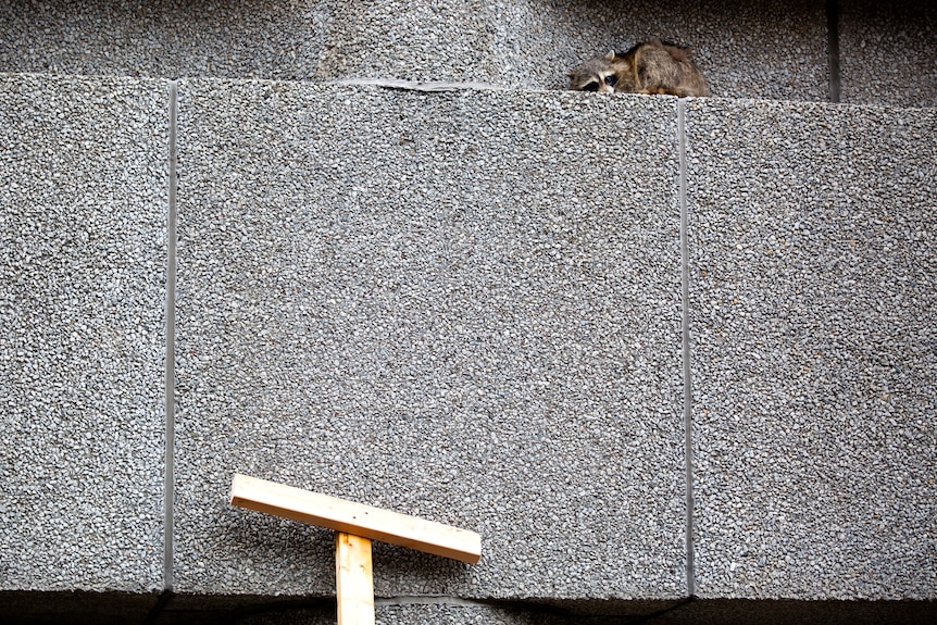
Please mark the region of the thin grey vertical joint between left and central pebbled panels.
[[168, 223], [166, 233], [166, 377], [165, 377], [165, 483], [163, 521], [163, 588], [173, 589], [173, 513], [175, 501], [176, 447], [176, 117], [178, 113], [178, 84], [170, 82], [170, 179]]

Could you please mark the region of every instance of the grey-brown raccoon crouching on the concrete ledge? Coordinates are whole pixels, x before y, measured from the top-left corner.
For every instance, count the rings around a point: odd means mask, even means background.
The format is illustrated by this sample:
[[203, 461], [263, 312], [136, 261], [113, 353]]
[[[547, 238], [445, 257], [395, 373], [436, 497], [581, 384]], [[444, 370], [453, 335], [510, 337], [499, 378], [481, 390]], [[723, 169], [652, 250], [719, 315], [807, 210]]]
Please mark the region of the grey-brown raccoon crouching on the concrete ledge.
[[575, 91], [709, 96], [705, 78], [690, 54], [689, 48], [651, 39], [627, 52], [613, 50], [586, 61], [566, 76]]

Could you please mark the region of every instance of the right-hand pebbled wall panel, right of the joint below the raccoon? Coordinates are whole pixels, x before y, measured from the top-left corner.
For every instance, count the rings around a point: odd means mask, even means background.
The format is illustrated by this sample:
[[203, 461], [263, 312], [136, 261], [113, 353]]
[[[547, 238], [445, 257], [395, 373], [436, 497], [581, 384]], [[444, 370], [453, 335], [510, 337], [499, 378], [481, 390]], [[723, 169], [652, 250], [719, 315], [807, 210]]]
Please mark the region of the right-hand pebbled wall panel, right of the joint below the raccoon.
[[699, 596], [934, 599], [937, 113], [688, 108]]

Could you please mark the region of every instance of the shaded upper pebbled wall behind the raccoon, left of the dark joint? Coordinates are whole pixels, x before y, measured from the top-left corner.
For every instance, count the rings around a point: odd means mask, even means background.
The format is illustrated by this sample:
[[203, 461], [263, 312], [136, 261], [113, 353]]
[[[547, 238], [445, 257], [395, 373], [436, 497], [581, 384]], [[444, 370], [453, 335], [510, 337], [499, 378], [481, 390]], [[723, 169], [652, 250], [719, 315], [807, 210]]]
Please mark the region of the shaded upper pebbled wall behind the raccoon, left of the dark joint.
[[[586, 59], [661, 37], [696, 49], [713, 95], [828, 99], [823, 0], [0, 1], [0, 33], [8, 72], [551, 90]], [[934, 46], [916, 53], [933, 61]], [[874, 76], [860, 79], [877, 92]]]

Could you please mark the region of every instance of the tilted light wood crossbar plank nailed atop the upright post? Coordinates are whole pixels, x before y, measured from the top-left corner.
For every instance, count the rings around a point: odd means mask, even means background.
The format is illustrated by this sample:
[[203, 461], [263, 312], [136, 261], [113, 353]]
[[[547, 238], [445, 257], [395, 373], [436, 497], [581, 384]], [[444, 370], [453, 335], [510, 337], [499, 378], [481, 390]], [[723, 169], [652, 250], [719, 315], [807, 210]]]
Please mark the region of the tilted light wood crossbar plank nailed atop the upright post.
[[461, 562], [482, 558], [482, 537], [474, 532], [247, 475], [234, 476], [230, 502]]

